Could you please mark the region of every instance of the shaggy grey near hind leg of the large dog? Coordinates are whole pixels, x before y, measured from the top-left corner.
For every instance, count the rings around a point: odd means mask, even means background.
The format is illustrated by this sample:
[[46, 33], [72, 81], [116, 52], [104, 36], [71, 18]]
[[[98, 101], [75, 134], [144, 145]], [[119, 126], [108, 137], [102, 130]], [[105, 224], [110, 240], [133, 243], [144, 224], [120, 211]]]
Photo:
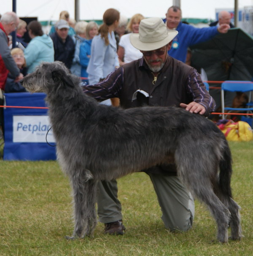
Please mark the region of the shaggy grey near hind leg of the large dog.
[[[201, 144], [183, 145], [182, 148], [177, 148], [175, 161], [182, 182], [208, 206], [215, 218], [218, 226], [218, 240], [221, 243], [227, 243], [230, 212], [213, 191], [212, 180], [216, 179], [218, 160], [212, 159], [212, 151], [212, 148]], [[197, 159], [196, 156], [198, 156]]]

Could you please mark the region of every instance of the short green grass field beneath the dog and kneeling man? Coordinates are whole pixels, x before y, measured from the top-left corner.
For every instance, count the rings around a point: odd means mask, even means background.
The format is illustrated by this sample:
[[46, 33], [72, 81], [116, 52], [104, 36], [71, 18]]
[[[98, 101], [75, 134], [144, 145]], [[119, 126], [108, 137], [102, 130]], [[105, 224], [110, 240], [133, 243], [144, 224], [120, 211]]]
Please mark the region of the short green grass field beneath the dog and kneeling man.
[[[252, 256], [253, 142], [231, 142], [232, 189], [242, 207], [241, 241], [221, 244], [206, 207], [196, 200], [194, 226], [185, 233], [164, 229], [153, 186], [145, 173], [118, 180], [126, 233], [68, 241], [72, 198], [57, 162], [0, 160], [0, 256]], [[1, 152], [2, 153], [2, 152]]]

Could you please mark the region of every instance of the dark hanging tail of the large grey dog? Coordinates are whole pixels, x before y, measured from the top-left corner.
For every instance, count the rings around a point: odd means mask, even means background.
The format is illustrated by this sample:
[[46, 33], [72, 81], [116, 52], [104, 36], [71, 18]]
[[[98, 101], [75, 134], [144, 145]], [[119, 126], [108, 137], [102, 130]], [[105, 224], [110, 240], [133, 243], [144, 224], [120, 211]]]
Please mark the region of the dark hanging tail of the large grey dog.
[[232, 157], [231, 151], [226, 139], [224, 139], [223, 155], [220, 161], [219, 187], [222, 194], [232, 197], [231, 192], [231, 175], [232, 175]]

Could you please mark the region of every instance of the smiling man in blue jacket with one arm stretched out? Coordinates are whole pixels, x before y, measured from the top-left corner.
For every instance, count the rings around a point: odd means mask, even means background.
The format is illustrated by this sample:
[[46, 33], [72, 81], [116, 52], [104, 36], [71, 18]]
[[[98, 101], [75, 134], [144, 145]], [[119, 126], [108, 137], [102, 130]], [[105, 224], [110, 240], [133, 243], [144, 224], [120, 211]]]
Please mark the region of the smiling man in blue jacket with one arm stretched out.
[[167, 30], [177, 30], [178, 35], [174, 38], [172, 47], [168, 51], [169, 55], [182, 62], [186, 61], [187, 48], [196, 43], [205, 42], [215, 35], [226, 33], [229, 30], [228, 24], [221, 24], [218, 27], [196, 28], [181, 22], [182, 12], [178, 6], [171, 6], [167, 13], [164, 23]]

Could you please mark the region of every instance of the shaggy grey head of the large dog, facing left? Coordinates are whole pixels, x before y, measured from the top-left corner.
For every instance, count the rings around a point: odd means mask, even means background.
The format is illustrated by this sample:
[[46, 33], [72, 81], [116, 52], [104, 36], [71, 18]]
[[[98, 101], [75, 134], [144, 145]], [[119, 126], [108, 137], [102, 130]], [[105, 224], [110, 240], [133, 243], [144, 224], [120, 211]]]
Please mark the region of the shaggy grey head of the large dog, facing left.
[[48, 94], [59, 89], [60, 86], [66, 89], [73, 88], [79, 85], [80, 78], [72, 75], [62, 62], [42, 62], [33, 73], [26, 75], [21, 83], [28, 92]]

